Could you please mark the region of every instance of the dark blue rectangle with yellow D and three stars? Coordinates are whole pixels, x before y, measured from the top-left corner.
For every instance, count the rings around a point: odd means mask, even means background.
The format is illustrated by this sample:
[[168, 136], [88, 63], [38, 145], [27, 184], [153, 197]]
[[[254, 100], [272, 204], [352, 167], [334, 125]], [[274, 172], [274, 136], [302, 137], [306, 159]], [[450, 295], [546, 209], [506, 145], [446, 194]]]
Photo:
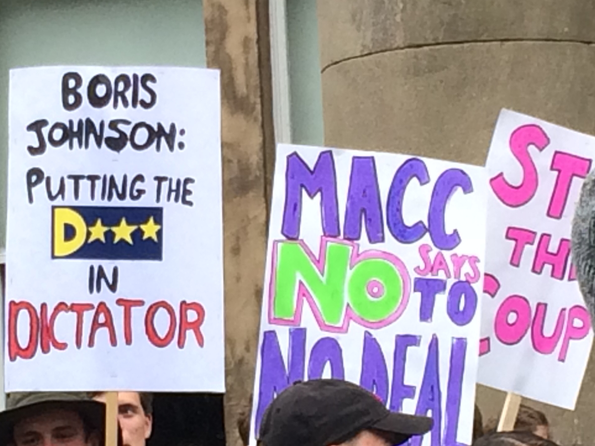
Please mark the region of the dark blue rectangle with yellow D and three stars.
[[52, 259], [162, 260], [163, 208], [52, 206]]

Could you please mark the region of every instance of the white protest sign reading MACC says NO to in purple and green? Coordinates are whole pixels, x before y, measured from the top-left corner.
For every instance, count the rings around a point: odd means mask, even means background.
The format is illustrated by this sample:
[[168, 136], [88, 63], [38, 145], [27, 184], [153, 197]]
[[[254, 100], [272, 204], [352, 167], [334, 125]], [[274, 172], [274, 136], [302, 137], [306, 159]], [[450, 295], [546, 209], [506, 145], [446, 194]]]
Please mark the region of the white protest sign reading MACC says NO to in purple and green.
[[290, 145], [276, 163], [252, 433], [290, 383], [332, 376], [469, 444], [484, 169]]

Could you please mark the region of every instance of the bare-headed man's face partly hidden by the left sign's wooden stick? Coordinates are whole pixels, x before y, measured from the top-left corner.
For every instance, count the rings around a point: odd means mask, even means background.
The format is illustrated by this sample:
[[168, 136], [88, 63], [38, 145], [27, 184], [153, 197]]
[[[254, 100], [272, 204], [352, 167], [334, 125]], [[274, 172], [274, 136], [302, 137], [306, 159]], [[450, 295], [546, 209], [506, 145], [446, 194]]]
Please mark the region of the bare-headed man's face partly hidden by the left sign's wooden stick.
[[[105, 394], [96, 396], [95, 400], [105, 403]], [[118, 392], [118, 419], [124, 446], [145, 446], [151, 436], [153, 417], [143, 410], [139, 392]]]

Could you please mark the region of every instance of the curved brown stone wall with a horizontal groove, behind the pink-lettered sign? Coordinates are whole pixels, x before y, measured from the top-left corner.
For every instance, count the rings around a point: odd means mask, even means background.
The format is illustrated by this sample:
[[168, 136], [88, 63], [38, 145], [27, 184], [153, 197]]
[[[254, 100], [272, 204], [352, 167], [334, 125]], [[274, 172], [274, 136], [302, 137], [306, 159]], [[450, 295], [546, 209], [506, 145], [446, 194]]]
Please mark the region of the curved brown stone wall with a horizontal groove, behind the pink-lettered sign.
[[[327, 146], [484, 164], [500, 108], [595, 134], [595, 2], [318, 0]], [[595, 362], [577, 410], [544, 410], [593, 444]], [[501, 392], [478, 388], [484, 417]]]

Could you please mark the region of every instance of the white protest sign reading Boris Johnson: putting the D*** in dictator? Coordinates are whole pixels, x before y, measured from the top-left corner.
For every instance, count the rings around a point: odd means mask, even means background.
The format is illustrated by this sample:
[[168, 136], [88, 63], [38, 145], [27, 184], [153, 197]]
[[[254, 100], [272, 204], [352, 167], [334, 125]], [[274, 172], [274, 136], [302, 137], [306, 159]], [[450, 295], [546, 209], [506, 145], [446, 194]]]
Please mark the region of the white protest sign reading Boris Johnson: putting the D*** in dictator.
[[224, 391], [218, 71], [12, 70], [9, 127], [6, 390]]

